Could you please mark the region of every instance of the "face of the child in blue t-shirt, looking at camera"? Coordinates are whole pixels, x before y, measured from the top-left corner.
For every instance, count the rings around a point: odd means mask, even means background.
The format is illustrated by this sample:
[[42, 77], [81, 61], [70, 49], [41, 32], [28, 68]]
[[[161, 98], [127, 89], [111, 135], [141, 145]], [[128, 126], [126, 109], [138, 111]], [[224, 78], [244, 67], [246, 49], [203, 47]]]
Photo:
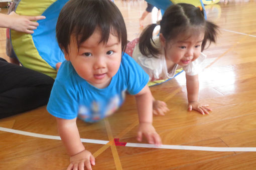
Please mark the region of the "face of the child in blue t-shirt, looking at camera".
[[106, 87], [119, 69], [121, 62], [121, 42], [116, 36], [109, 35], [107, 43], [98, 43], [100, 29], [80, 44], [79, 51], [74, 36], [71, 36], [69, 51], [64, 51], [79, 76], [97, 88]]

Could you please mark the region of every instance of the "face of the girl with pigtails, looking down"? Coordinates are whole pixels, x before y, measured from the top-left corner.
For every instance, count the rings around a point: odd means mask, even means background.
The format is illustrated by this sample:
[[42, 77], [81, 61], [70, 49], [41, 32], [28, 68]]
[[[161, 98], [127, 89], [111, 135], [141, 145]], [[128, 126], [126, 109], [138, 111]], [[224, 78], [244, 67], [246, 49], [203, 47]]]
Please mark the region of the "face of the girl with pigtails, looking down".
[[[184, 39], [182, 35], [167, 42], [160, 34], [161, 45], [165, 47], [165, 57], [181, 66], [188, 65], [197, 59], [201, 53], [204, 33], [191, 35]], [[167, 42], [167, 43], [166, 43]]]

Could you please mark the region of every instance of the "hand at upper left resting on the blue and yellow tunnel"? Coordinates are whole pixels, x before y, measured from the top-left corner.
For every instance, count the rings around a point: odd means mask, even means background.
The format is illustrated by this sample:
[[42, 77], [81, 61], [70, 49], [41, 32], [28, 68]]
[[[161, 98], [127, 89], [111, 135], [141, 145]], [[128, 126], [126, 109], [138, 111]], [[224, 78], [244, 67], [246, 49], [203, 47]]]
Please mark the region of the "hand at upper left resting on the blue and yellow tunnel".
[[20, 32], [34, 33], [33, 29], [36, 29], [39, 25], [38, 22], [32, 20], [45, 19], [45, 16], [23, 16], [12, 11], [9, 14], [10, 28]]

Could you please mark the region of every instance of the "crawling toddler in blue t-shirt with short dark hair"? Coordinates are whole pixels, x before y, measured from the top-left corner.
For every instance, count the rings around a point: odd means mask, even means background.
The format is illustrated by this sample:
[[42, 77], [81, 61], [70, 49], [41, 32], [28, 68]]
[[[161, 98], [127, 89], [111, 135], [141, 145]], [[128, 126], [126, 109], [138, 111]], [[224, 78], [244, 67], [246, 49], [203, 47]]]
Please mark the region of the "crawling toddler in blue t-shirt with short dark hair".
[[[107, 9], [107, 10], [106, 10]], [[125, 49], [127, 35], [118, 8], [109, 0], [70, 0], [62, 8], [56, 36], [64, 51], [47, 110], [57, 117], [58, 131], [70, 155], [68, 169], [91, 169], [93, 155], [85, 149], [77, 116], [95, 122], [112, 114], [125, 91], [135, 95], [139, 114], [137, 139], [161, 144], [152, 125], [153, 97], [149, 76]]]

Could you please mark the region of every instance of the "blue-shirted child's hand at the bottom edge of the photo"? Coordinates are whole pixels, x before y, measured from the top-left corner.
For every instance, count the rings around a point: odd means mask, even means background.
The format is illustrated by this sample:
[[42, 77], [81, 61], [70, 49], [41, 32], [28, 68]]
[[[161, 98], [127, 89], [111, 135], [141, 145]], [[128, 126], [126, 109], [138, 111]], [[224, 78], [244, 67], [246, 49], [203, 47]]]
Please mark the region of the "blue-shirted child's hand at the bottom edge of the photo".
[[[73, 156], [70, 156], [70, 164], [67, 170], [76, 169], [88, 169], [92, 170], [91, 165], [95, 165], [95, 158], [88, 150], [83, 150]], [[85, 166], [85, 168], [84, 168]]]

